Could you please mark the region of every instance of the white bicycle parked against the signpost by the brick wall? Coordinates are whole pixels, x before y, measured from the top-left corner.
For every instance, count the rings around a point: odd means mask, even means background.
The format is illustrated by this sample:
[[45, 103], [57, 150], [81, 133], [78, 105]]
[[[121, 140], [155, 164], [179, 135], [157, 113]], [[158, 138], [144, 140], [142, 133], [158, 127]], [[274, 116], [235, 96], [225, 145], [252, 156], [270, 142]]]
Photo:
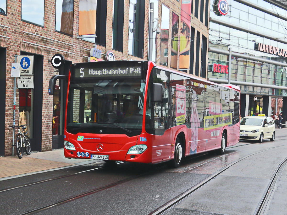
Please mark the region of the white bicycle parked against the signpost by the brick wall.
[[[18, 158], [23, 157], [22, 150], [25, 148], [25, 152], [27, 155], [30, 155], [31, 153], [31, 145], [30, 145], [30, 137], [27, 135], [28, 131], [24, 132], [24, 129], [26, 129], [27, 125], [20, 125], [20, 126], [9, 126], [9, 128], [18, 128], [18, 133], [16, 135], [16, 141], [15, 144], [12, 146], [16, 146], [16, 152]], [[21, 129], [23, 131], [21, 131]], [[24, 133], [23, 133], [24, 132]]]

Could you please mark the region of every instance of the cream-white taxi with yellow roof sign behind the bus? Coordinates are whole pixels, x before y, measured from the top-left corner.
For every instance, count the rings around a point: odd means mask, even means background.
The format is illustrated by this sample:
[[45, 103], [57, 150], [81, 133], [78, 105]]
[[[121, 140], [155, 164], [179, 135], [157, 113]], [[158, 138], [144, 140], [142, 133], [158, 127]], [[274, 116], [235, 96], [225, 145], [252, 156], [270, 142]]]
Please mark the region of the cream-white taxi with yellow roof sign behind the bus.
[[241, 140], [258, 140], [262, 142], [263, 139], [275, 140], [275, 123], [271, 117], [265, 114], [259, 116], [246, 116], [240, 120], [240, 134]]

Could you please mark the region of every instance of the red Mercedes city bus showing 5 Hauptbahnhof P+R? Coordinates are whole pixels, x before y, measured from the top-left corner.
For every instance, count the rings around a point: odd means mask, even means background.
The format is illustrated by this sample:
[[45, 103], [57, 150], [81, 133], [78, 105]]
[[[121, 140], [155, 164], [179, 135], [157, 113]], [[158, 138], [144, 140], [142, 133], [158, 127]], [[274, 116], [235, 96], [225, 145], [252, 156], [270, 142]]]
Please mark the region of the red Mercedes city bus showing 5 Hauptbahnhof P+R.
[[240, 88], [158, 67], [151, 61], [72, 64], [64, 127], [66, 158], [178, 167], [239, 141]]

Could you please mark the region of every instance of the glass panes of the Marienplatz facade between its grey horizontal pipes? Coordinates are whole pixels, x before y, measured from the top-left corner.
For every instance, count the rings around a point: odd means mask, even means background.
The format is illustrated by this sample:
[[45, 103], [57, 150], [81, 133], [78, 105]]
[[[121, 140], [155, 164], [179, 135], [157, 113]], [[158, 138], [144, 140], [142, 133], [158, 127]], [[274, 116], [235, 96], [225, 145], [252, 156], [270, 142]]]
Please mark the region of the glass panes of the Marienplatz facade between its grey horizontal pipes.
[[[287, 21], [280, 19], [280, 16], [270, 15], [237, 1], [227, 0], [227, 2], [230, 7], [228, 14], [218, 16], [213, 11], [212, 6], [214, 1], [211, 1], [210, 17], [215, 21], [210, 22], [209, 47], [224, 51], [228, 51], [228, 49], [231, 48], [232, 52], [239, 54], [286, 63], [287, 58], [285, 55], [278, 56], [260, 52], [255, 50], [255, 45], [256, 43], [262, 43], [287, 50], [287, 40], [285, 39], [287, 36], [285, 30]], [[250, 2], [254, 5], [264, 7], [269, 10], [270, 13], [273, 12], [286, 17], [286, 10], [263, 0], [250, 0]], [[247, 33], [236, 30], [235, 28], [229, 28], [223, 24], [216, 23], [216, 20], [224, 21], [234, 26], [245, 26], [250, 32]], [[254, 32], [260, 32], [261, 34], [274, 38], [274, 40], [257, 36]], [[228, 74], [222, 70], [214, 70], [214, 64], [216, 64], [216, 66], [220, 65], [222, 68], [223, 66], [228, 66], [228, 62], [228, 55], [209, 52], [208, 77], [227, 79]], [[231, 68], [229, 68], [228, 71], [231, 72], [231, 80], [234, 81], [287, 86], [286, 67], [283, 66], [232, 56]], [[262, 87], [241, 86], [241, 92], [247, 94], [287, 96], [286, 90], [274, 90]]]

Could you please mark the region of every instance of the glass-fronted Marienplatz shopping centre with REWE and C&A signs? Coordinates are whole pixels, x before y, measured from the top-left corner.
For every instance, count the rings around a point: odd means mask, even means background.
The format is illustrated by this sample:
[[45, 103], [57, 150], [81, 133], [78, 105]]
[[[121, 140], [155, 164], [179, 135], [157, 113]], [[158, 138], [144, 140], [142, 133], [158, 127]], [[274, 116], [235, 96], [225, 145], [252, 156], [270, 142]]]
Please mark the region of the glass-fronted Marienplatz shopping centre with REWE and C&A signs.
[[[249, 102], [245, 113], [259, 113], [264, 106], [260, 99], [264, 96], [287, 97], [287, 10], [285, 5], [276, 6], [263, 0], [225, 2], [226, 15], [218, 13], [217, 0], [210, 2], [208, 78], [220, 83], [231, 73], [231, 83], [236, 81], [243, 95], [252, 97], [251, 101], [257, 96], [255, 104]], [[270, 115], [270, 110], [268, 107], [265, 112]]]

